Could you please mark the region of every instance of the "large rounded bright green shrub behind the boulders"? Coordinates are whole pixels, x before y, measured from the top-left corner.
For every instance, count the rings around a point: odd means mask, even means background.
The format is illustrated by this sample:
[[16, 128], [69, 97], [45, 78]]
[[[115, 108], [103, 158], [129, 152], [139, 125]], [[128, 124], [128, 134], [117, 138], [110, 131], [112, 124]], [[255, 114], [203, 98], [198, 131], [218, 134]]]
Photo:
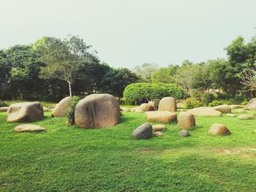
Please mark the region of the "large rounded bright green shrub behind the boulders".
[[175, 99], [187, 98], [184, 89], [176, 84], [139, 82], [128, 85], [124, 89], [124, 98], [127, 104], [141, 104], [153, 99], [162, 99], [172, 96]]

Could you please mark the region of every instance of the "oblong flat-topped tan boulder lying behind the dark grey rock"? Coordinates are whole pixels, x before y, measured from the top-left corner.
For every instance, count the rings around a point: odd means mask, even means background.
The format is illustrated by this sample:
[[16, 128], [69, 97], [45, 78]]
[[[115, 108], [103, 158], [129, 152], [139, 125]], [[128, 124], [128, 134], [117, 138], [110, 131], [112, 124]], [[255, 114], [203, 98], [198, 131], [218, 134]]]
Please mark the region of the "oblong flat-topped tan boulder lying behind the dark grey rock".
[[146, 112], [146, 120], [151, 122], [172, 123], [176, 121], [176, 113], [169, 111]]

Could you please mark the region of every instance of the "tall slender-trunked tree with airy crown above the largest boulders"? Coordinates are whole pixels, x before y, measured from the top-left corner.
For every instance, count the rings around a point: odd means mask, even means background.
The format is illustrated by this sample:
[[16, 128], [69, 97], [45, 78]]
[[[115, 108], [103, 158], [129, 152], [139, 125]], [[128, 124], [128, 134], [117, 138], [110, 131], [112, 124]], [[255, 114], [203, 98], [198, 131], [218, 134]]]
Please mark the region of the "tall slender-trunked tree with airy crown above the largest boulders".
[[41, 69], [41, 77], [64, 80], [69, 85], [69, 96], [72, 96], [72, 83], [78, 78], [80, 67], [95, 57], [90, 50], [91, 46], [79, 37], [68, 36], [64, 40], [43, 37], [34, 47], [41, 51], [46, 64]]

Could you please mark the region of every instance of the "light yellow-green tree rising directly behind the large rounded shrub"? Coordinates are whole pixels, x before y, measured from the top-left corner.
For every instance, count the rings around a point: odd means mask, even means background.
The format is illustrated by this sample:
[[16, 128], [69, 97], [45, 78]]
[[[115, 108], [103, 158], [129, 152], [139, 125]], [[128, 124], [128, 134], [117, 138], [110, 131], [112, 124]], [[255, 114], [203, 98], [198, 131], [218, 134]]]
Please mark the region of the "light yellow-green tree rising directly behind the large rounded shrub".
[[177, 65], [170, 65], [167, 68], [161, 67], [152, 73], [152, 82], [173, 83], [175, 82], [175, 74], [178, 72]]

